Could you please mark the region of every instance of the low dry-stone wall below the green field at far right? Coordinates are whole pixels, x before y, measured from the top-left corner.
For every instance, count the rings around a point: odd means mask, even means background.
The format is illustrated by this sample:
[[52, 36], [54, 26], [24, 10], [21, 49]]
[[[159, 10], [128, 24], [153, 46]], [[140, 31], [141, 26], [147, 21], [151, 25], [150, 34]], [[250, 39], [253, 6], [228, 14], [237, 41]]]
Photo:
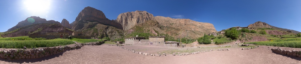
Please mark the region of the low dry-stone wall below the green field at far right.
[[279, 54], [282, 54], [282, 55], [301, 57], [301, 51], [296, 51], [296, 50], [282, 50], [281, 48], [272, 48], [271, 50], [274, 53], [279, 53]]

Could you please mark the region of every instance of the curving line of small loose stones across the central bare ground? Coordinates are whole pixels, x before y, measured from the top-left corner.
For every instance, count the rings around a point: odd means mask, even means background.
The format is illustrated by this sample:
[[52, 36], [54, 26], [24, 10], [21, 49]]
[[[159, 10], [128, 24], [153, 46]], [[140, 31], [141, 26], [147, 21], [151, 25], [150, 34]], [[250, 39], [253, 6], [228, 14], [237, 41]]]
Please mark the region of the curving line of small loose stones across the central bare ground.
[[[149, 55], [149, 56], [166, 56], [166, 53], [162, 53], [162, 54], [150, 54], [150, 53], [144, 53], [144, 52], [137, 52], [135, 51], [134, 49], [128, 49], [128, 48], [124, 48], [124, 47], [121, 47], [119, 45], [109, 45], [109, 46], [117, 46], [117, 47], [120, 47], [120, 48], [123, 48], [123, 49], [126, 49], [128, 51], [131, 51], [133, 53], [138, 53], [138, 54], [142, 54], [142, 55]], [[215, 50], [215, 49], [213, 49]], [[208, 51], [198, 51], [198, 52], [192, 52], [192, 53], [178, 53], [177, 56], [182, 56], [182, 55], [189, 55], [189, 54], [198, 54], [198, 53], [204, 53], [204, 52], [209, 52], [209, 51], [213, 51], [212, 49], [211, 50], [208, 50]], [[222, 50], [222, 49], [221, 49]], [[230, 50], [230, 49], [226, 49], [226, 50]], [[173, 56], [176, 56], [175, 53], [172, 53]]]

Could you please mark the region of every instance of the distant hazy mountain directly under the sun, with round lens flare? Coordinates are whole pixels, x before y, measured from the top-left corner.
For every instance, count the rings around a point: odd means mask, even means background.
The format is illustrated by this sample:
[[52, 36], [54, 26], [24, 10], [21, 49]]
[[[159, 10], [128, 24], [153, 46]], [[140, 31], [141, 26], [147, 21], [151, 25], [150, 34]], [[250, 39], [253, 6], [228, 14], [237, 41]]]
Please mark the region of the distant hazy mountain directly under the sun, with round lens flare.
[[46, 20], [44, 18], [40, 18], [40, 17], [36, 17], [36, 16], [32, 16], [32, 17], [28, 17], [26, 18], [26, 20], [23, 20], [21, 22], [19, 22], [16, 26], [12, 27], [11, 29], [8, 29], [7, 31], [12, 31], [24, 26], [28, 26], [28, 25], [32, 25], [32, 24], [41, 24], [41, 23], [48, 23], [48, 24], [58, 24], [61, 25], [60, 22], [54, 21], [54, 20]]

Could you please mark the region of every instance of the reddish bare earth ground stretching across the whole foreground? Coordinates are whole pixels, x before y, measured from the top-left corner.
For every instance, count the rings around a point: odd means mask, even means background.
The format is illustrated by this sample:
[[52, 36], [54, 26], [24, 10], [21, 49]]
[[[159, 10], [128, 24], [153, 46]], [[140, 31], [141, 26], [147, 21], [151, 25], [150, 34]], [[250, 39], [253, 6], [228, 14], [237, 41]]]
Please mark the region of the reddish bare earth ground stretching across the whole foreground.
[[[221, 45], [222, 46], [222, 45]], [[268, 50], [271, 46], [260, 46], [255, 49], [241, 50], [242, 47], [232, 45], [231, 47], [208, 47], [208, 48], [176, 48], [156, 46], [122, 46], [134, 49], [138, 52], [161, 53], [170, 50], [210, 50], [230, 49], [224, 51], [209, 51], [205, 53], [191, 54], [185, 56], [146, 56], [138, 53], [102, 44], [99, 46], [86, 45], [78, 50], [66, 51], [39, 59], [0, 59], [0, 64], [11, 63], [33, 63], [33, 64], [300, 64], [301, 58], [294, 56], [283, 56]], [[277, 48], [277, 47], [273, 47]], [[289, 49], [289, 48], [287, 48]], [[301, 50], [300, 48], [294, 48]], [[189, 52], [189, 51], [188, 51]]]

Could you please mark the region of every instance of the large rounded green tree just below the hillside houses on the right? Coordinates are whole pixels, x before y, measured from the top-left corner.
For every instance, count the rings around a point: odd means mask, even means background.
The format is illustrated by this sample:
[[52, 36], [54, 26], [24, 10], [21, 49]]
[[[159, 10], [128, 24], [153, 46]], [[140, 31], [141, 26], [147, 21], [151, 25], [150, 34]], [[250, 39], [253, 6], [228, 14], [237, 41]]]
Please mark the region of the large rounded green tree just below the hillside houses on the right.
[[238, 32], [236, 29], [227, 29], [225, 31], [225, 36], [231, 38], [231, 39], [237, 39], [240, 35], [240, 32]]

